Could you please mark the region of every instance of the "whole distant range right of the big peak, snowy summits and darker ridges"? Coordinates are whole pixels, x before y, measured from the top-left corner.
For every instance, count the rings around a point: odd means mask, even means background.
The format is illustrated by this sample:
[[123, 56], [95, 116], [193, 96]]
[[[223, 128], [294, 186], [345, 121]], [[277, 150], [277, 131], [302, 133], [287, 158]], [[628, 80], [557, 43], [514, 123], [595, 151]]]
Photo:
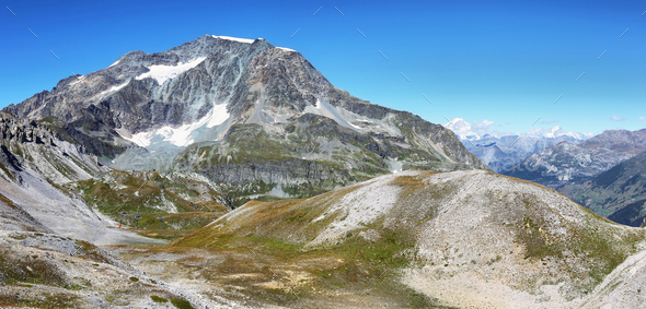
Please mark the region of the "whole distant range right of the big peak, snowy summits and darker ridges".
[[445, 127], [494, 171], [554, 188], [621, 224], [641, 226], [646, 218], [646, 129], [590, 138], [560, 127], [504, 135], [459, 118]]

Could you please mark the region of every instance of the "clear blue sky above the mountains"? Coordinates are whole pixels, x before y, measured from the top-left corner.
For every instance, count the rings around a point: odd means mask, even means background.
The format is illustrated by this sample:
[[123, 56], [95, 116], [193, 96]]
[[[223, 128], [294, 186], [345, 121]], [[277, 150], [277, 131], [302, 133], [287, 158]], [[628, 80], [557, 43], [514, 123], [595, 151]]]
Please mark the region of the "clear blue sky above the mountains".
[[435, 123], [486, 119], [491, 129], [511, 132], [646, 128], [644, 1], [10, 0], [2, 7], [15, 15], [0, 8], [0, 107], [130, 50], [162, 51], [214, 34], [296, 49], [337, 87]]

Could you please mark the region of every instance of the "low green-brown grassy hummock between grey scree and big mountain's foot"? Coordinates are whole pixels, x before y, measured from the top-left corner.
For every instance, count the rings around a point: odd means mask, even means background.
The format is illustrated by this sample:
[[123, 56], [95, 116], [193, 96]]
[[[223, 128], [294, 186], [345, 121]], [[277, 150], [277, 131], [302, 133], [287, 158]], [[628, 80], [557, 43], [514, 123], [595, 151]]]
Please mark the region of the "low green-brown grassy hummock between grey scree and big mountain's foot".
[[[139, 214], [139, 228], [145, 235], [157, 238], [184, 236], [229, 211], [218, 202], [223, 197], [204, 182], [166, 178], [158, 171], [115, 170], [67, 187], [116, 222], [122, 219], [119, 213], [125, 211], [127, 215], [123, 223], [126, 226], [135, 227], [132, 217]], [[161, 229], [159, 216], [163, 217]]]

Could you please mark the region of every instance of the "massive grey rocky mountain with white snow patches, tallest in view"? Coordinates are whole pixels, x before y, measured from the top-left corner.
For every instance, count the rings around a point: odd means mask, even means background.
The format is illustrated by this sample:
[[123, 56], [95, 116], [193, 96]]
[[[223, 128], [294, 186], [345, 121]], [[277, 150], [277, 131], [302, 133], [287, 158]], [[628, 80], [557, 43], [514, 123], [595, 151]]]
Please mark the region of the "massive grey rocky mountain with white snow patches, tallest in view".
[[262, 38], [206, 35], [131, 51], [5, 110], [53, 119], [111, 167], [182, 169], [228, 185], [237, 204], [409, 168], [486, 168], [450, 130], [356, 98]]

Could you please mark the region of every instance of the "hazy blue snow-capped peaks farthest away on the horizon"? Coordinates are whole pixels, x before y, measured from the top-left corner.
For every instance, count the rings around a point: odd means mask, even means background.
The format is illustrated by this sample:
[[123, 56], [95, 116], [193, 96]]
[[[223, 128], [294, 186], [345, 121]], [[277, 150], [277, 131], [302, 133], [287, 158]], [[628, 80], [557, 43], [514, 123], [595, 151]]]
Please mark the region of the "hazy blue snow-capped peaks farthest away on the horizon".
[[565, 132], [561, 127], [534, 129], [523, 134], [499, 133], [472, 126], [461, 118], [445, 127], [451, 129], [472, 154], [496, 173], [531, 169], [532, 166], [521, 165], [523, 158], [561, 142], [576, 144], [591, 136], [590, 133]]

